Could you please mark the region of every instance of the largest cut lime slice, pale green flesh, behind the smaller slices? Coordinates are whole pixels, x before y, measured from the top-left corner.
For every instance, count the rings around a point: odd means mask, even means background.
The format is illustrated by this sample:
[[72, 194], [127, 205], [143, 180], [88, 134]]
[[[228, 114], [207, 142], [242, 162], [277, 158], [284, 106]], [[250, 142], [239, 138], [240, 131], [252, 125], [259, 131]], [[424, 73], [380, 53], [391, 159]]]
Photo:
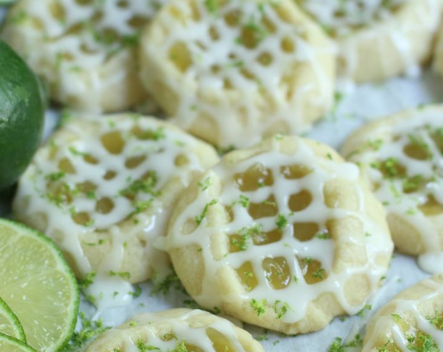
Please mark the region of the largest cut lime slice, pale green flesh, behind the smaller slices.
[[74, 331], [78, 286], [62, 253], [42, 234], [5, 219], [0, 219], [0, 296], [38, 351], [56, 351]]

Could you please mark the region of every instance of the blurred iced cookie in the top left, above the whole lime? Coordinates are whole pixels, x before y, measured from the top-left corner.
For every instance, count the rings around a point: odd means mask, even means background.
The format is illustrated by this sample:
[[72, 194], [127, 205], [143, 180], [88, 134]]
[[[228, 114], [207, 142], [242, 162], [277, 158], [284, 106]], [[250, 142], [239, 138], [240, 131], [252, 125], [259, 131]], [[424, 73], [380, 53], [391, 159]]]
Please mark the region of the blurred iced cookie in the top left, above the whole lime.
[[148, 101], [137, 73], [139, 32], [167, 0], [20, 0], [1, 37], [71, 108], [114, 112]]

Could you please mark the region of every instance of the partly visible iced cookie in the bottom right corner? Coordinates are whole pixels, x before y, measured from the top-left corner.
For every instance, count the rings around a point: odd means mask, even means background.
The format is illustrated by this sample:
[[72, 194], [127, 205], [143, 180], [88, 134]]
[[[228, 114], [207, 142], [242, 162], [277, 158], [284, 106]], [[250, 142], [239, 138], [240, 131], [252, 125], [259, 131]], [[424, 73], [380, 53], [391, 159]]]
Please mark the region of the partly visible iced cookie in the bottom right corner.
[[443, 277], [409, 287], [368, 323], [362, 352], [443, 350]]

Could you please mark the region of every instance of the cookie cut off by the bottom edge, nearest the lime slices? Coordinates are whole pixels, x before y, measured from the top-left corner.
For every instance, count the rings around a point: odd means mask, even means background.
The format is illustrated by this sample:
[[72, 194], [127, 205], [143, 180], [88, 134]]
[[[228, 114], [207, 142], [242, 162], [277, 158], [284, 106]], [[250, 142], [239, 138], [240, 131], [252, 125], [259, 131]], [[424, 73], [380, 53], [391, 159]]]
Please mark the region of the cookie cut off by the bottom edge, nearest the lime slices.
[[85, 348], [109, 351], [264, 352], [251, 334], [225, 318], [185, 308], [136, 315]]

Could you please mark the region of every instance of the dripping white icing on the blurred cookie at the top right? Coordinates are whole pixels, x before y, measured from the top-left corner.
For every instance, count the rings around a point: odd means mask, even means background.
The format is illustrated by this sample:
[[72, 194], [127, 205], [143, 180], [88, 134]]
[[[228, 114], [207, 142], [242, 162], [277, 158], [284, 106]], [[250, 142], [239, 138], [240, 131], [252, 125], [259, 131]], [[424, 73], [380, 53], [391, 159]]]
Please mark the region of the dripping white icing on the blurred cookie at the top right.
[[[399, 54], [405, 73], [416, 77], [420, 74], [420, 60], [417, 58], [417, 44], [411, 39], [416, 32], [435, 33], [440, 20], [441, 3], [439, 0], [423, 0], [423, 6], [417, 7], [416, 13], [410, 14], [409, 22], [401, 14], [405, 7], [413, 6], [422, 0], [298, 0], [299, 4], [312, 15], [326, 31], [338, 40], [339, 56], [345, 66], [343, 77], [352, 77], [359, 67], [359, 42], [374, 38], [380, 52], [386, 50], [385, 39], [389, 39], [395, 51], [386, 53]], [[412, 16], [416, 16], [413, 18]], [[376, 40], [377, 39], [377, 40]], [[369, 48], [366, 48], [369, 49]], [[389, 58], [383, 59], [389, 62]], [[383, 66], [383, 62], [381, 62]], [[384, 65], [386, 66], [386, 65]], [[390, 65], [388, 65], [390, 66]], [[389, 68], [384, 67], [385, 72]]]

